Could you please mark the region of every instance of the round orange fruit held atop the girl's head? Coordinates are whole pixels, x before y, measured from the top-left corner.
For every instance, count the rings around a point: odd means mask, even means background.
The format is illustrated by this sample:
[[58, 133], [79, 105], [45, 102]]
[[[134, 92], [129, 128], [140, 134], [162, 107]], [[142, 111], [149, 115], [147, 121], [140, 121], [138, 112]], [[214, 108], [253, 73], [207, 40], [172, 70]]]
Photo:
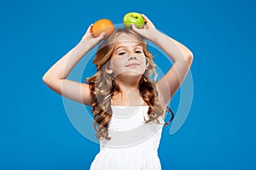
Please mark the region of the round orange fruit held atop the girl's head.
[[111, 20], [97, 20], [92, 26], [91, 31], [94, 37], [99, 37], [102, 32], [106, 32], [105, 37], [108, 37], [114, 31], [114, 26]]

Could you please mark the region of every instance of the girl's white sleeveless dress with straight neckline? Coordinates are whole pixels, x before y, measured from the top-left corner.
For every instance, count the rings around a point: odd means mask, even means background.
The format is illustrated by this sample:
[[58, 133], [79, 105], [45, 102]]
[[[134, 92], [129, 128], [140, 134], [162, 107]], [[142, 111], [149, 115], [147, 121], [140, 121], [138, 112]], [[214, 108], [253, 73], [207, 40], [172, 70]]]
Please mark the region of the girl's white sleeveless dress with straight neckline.
[[110, 140], [100, 141], [100, 152], [90, 170], [160, 170], [158, 148], [164, 121], [160, 124], [148, 120], [148, 105], [111, 105], [113, 116], [109, 122]]

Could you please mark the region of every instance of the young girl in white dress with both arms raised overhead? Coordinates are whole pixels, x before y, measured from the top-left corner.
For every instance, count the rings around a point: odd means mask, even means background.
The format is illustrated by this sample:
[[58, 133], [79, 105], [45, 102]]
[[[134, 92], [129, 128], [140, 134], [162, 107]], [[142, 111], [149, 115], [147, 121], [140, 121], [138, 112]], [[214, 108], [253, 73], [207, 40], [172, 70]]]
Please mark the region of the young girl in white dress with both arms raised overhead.
[[[44, 82], [62, 96], [92, 107], [100, 152], [90, 170], [160, 170], [158, 147], [167, 105], [192, 64], [193, 54], [180, 42], [145, 26], [118, 28], [109, 37], [93, 37], [90, 25], [81, 41], [44, 74]], [[67, 80], [73, 67], [99, 42], [96, 74], [80, 83]], [[148, 39], [174, 61], [158, 82]], [[172, 112], [172, 110], [168, 109]], [[165, 125], [167, 126], [173, 119]]]

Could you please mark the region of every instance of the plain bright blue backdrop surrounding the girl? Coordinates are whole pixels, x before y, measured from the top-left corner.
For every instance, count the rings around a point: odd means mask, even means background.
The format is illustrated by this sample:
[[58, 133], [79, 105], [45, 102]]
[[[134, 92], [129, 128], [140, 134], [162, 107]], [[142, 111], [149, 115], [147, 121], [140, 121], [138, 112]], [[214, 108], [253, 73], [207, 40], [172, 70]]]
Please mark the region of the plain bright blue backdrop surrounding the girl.
[[[1, 1], [0, 169], [89, 169], [99, 145], [69, 121], [42, 77], [87, 27], [146, 14], [194, 54], [183, 127], [164, 127], [166, 169], [255, 169], [255, 3], [245, 1]], [[177, 110], [178, 93], [172, 110]]]

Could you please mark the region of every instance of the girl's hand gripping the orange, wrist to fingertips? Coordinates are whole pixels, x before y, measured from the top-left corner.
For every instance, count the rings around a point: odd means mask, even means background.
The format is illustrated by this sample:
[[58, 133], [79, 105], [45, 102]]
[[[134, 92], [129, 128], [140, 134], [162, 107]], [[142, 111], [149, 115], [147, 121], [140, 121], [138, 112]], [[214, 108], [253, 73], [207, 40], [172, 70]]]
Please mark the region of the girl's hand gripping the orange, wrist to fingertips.
[[93, 24], [91, 24], [87, 31], [84, 34], [84, 37], [82, 37], [80, 42], [86, 43], [87, 45], [90, 46], [90, 48], [94, 48], [96, 46], [96, 44], [98, 44], [99, 42], [101, 42], [104, 39], [105, 36], [105, 32], [102, 32], [102, 34], [99, 37], [94, 37], [91, 31]]

